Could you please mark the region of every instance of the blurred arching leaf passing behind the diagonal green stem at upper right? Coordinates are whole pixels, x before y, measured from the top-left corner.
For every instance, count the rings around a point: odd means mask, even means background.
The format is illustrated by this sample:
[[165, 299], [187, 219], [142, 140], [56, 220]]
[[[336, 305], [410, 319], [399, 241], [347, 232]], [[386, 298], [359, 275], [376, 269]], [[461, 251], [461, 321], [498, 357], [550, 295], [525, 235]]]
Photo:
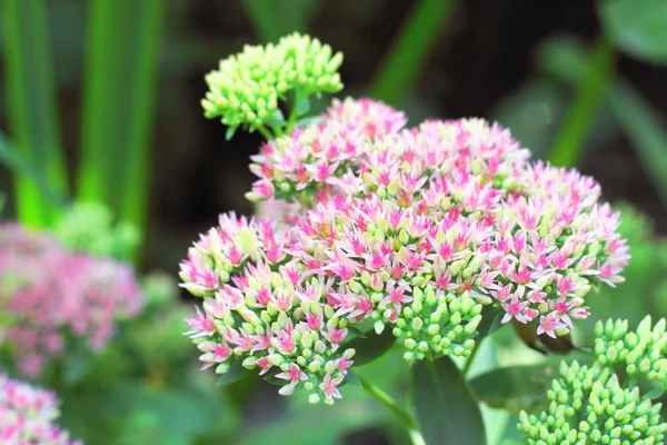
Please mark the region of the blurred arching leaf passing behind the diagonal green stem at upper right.
[[[586, 51], [571, 40], [551, 40], [540, 51], [542, 68], [568, 83], [578, 82], [587, 60]], [[618, 77], [608, 89], [607, 101], [667, 206], [667, 130], [641, 96]]]

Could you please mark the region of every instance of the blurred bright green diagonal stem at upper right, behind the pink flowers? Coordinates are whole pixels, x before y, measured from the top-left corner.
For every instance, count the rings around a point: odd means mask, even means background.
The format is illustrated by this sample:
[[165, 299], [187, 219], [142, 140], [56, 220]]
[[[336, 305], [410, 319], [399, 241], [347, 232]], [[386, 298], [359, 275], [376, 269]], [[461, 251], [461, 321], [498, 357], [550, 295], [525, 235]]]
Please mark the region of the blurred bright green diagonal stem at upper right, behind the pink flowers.
[[613, 61], [614, 48], [603, 37], [594, 49], [586, 75], [577, 85], [575, 99], [565, 115], [551, 151], [549, 151], [547, 158], [551, 164], [573, 167], [579, 160], [586, 136], [605, 99], [611, 77]]

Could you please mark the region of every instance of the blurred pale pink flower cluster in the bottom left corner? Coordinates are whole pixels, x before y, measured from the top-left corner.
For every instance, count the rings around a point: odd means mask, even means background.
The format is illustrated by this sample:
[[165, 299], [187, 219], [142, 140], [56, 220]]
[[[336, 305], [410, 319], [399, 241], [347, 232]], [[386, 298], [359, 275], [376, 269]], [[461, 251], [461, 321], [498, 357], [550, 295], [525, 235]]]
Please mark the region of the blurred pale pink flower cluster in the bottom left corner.
[[6, 445], [79, 445], [61, 429], [59, 402], [51, 392], [0, 374], [0, 443]]

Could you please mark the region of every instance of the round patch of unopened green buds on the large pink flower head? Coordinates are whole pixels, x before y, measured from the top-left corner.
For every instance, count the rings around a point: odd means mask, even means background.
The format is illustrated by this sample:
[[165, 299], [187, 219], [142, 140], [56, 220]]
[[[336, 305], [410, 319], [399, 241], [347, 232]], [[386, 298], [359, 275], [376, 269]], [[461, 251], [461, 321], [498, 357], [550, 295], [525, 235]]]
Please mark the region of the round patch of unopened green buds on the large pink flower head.
[[414, 288], [412, 303], [402, 308], [391, 330], [407, 349], [406, 360], [470, 355], [482, 306], [466, 294], [447, 294], [438, 299], [431, 286], [425, 286], [425, 290]]

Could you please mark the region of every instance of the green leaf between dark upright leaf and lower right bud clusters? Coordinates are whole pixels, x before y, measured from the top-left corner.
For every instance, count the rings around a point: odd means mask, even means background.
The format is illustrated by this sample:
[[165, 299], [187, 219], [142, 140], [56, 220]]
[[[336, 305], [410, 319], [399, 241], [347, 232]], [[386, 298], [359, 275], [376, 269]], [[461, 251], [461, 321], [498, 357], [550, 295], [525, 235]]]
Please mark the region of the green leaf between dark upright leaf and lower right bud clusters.
[[535, 413], [549, 402], [547, 390], [558, 374], [558, 363], [497, 368], [472, 378], [470, 387], [480, 402], [492, 408]]

